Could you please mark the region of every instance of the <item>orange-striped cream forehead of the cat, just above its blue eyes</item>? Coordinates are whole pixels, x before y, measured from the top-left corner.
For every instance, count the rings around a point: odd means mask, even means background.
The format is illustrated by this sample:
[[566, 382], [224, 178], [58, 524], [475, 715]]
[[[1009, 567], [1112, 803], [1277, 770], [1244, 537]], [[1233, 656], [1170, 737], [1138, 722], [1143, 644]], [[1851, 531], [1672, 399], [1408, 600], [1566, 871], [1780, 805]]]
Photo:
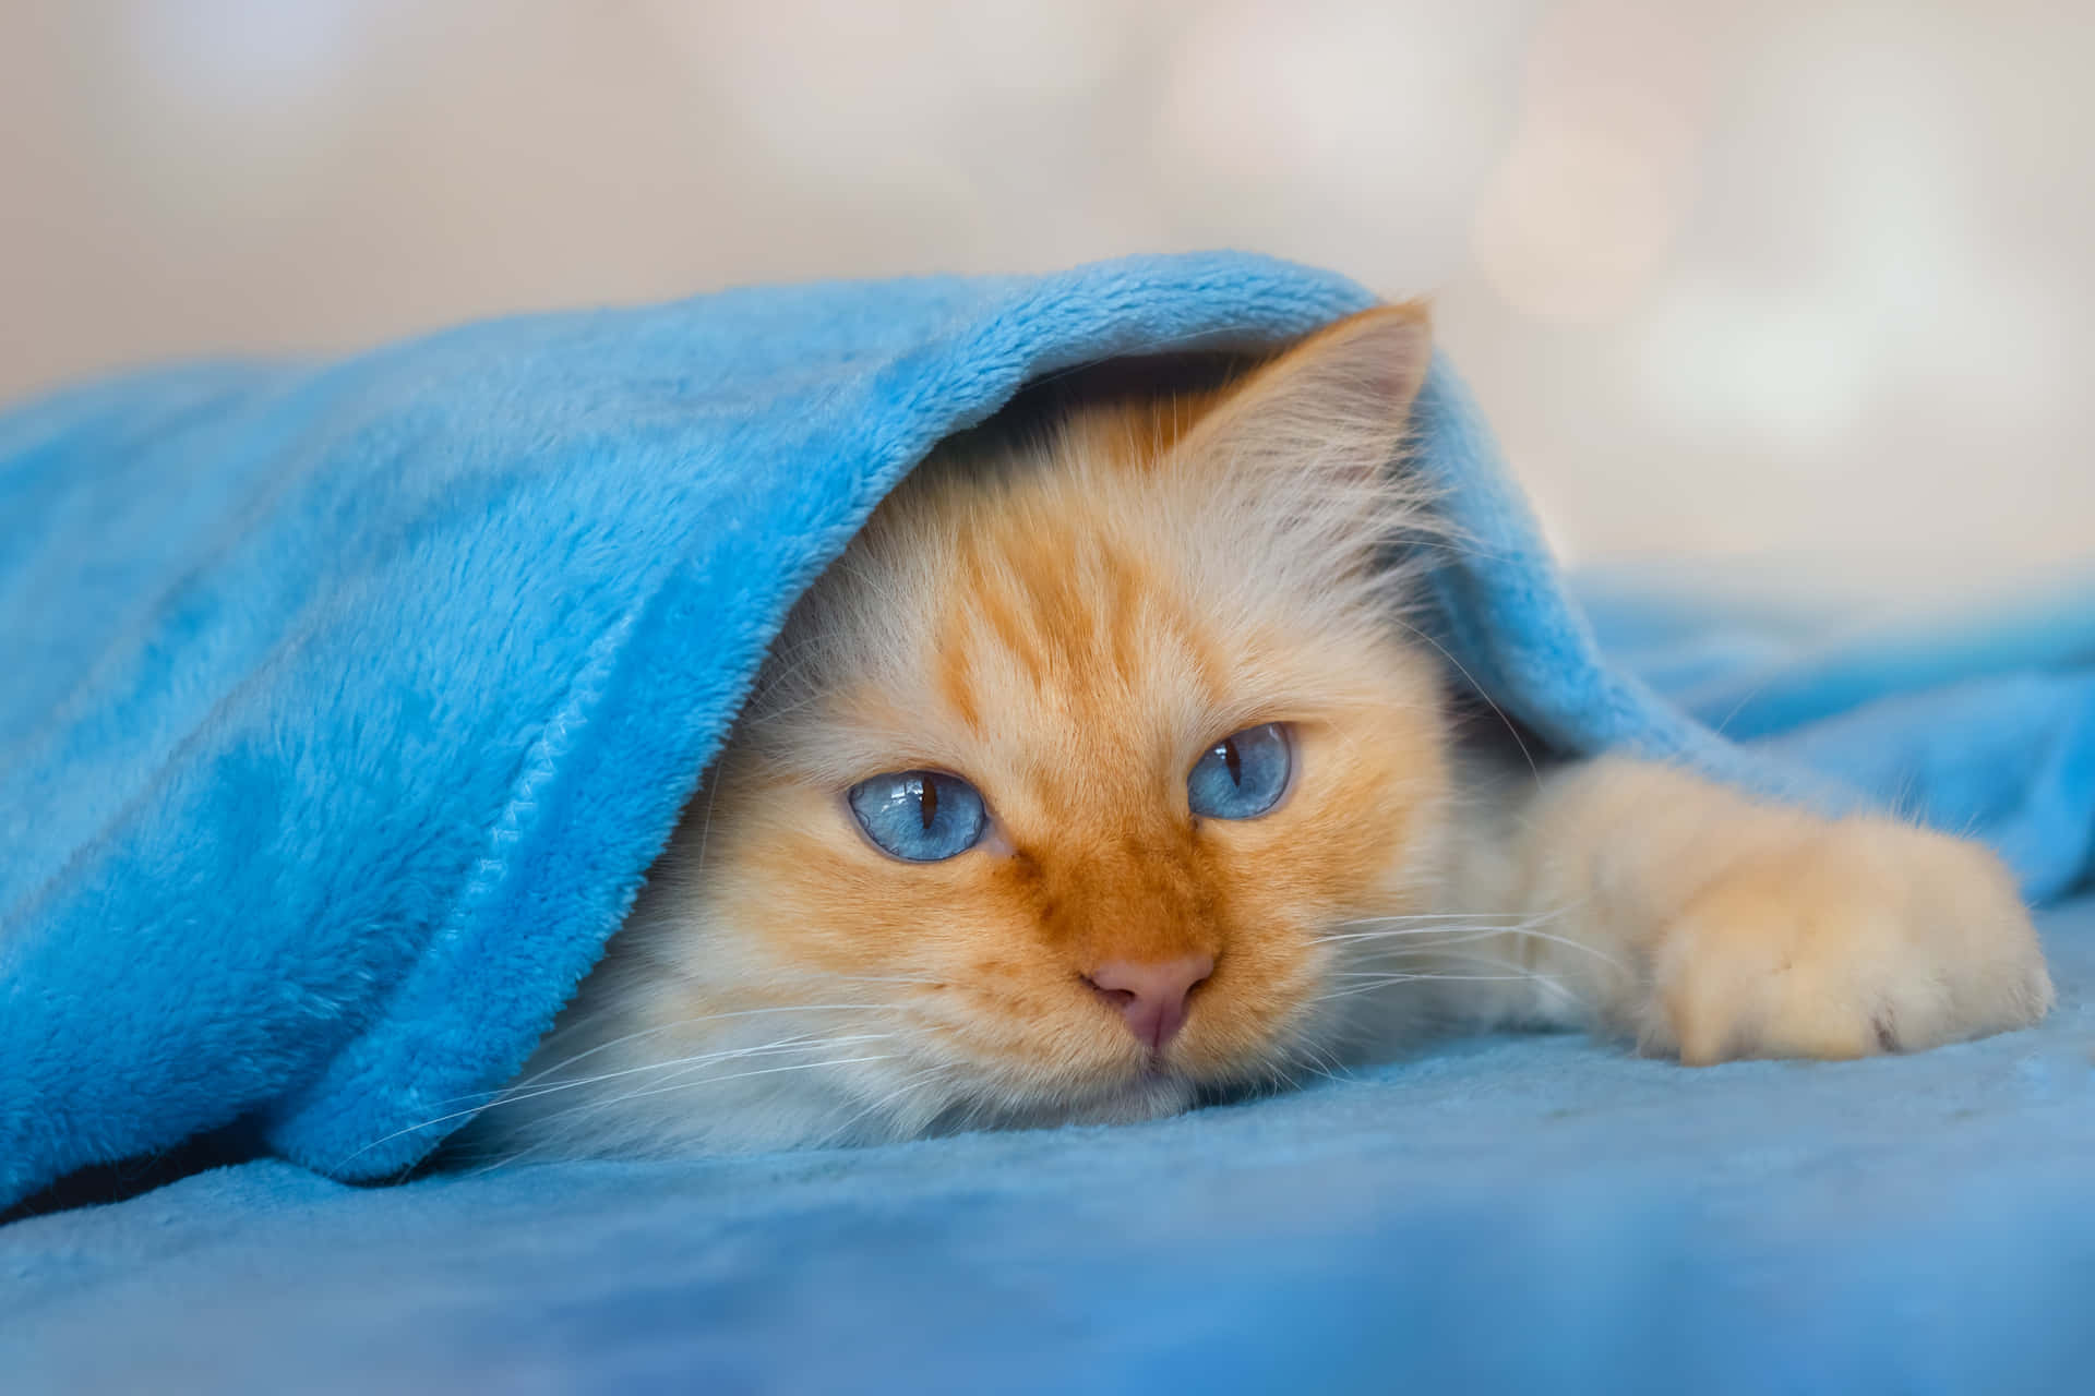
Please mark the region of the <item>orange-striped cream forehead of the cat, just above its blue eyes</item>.
[[1351, 632], [1326, 634], [1282, 594], [1244, 605], [1217, 576], [1228, 548], [1184, 509], [1091, 483], [1004, 492], [874, 540], [825, 615], [859, 620], [802, 728], [832, 779], [922, 764], [1043, 800], [1154, 785], [1355, 678]]

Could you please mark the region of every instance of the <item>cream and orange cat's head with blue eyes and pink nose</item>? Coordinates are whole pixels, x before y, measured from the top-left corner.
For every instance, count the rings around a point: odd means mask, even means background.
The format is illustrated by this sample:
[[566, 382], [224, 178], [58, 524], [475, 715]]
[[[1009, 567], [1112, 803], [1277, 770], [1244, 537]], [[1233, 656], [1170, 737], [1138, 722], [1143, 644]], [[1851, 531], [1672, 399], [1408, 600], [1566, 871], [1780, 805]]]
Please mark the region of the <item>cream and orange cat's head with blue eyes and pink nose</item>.
[[[1314, 1067], [1366, 988], [1347, 927], [1423, 904], [1446, 825], [1389, 548], [1427, 360], [1381, 308], [1211, 393], [943, 448], [794, 611], [564, 1051], [744, 1053], [649, 1101], [708, 1145]], [[706, 1088], [721, 1061], [771, 1080]]]

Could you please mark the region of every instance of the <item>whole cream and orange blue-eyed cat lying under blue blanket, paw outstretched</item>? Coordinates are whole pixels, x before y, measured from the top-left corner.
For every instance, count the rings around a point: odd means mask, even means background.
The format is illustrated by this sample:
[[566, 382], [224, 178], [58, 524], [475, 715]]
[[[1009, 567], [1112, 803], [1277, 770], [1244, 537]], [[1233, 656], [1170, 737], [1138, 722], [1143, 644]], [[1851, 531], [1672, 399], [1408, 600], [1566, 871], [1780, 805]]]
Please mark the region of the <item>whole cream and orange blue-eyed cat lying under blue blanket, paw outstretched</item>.
[[1450, 1023], [1714, 1063], [2043, 1017], [1976, 843], [1458, 739], [1406, 622], [1433, 500], [1391, 469], [1429, 343], [1383, 306], [947, 442], [794, 609], [465, 1147], [1142, 1120]]

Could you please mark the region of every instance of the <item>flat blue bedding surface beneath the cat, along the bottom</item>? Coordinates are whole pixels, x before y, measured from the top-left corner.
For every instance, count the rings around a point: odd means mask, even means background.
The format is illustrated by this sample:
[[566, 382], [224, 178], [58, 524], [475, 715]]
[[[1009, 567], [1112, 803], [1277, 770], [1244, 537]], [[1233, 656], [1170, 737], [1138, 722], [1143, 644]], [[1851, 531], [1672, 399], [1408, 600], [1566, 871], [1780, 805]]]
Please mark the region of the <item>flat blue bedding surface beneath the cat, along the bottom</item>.
[[1452, 1042], [1121, 1128], [358, 1189], [224, 1168], [0, 1229], [40, 1392], [2074, 1392], [2095, 900], [2059, 1009], [1915, 1057]]

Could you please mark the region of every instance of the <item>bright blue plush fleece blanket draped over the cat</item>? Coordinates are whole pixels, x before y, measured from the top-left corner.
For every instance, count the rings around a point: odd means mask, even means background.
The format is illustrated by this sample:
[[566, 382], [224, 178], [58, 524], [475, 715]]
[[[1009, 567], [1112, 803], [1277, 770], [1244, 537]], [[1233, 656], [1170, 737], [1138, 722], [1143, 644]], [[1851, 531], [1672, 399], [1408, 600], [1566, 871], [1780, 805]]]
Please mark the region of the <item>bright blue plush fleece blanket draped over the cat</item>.
[[[733, 291], [6, 416], [0, 1206], [226, 1126], [346, 1180], [423, 1157], [599, 954], [786, 607], [939, 437], [1060, 368], [1368, 301], [1247, 255]], [[1712, 651], [1655, 674], [1668, 699], [1603, 655], [1446, 364], [1416, 469], [1464, 540], [1441, 643], [1538, 739], [1894, 802], [2032, 896], [2087, 875], [2085, 605]], [[1678, 640], [1626, 622], [1626, 649]], [[1749, 741], [1716, 730], [1741, 714]]]

